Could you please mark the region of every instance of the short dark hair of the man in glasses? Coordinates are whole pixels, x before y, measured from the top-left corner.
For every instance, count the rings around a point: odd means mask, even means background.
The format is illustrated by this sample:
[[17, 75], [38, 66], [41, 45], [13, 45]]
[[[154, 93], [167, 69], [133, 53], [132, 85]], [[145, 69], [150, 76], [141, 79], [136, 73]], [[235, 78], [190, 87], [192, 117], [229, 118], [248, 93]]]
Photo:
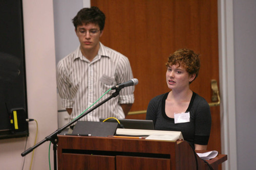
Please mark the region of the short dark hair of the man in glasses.
[[76, 16], [72, 19], [72, 22], [77, 29], [77, 26], [82, 25], [85, 23], [95, 23], [99, 25], [100, 31], [104, 29], [105, 25], [105, 14], [99, 10], [98, 7], [91, 7], [91, 8], [83, 8]]

